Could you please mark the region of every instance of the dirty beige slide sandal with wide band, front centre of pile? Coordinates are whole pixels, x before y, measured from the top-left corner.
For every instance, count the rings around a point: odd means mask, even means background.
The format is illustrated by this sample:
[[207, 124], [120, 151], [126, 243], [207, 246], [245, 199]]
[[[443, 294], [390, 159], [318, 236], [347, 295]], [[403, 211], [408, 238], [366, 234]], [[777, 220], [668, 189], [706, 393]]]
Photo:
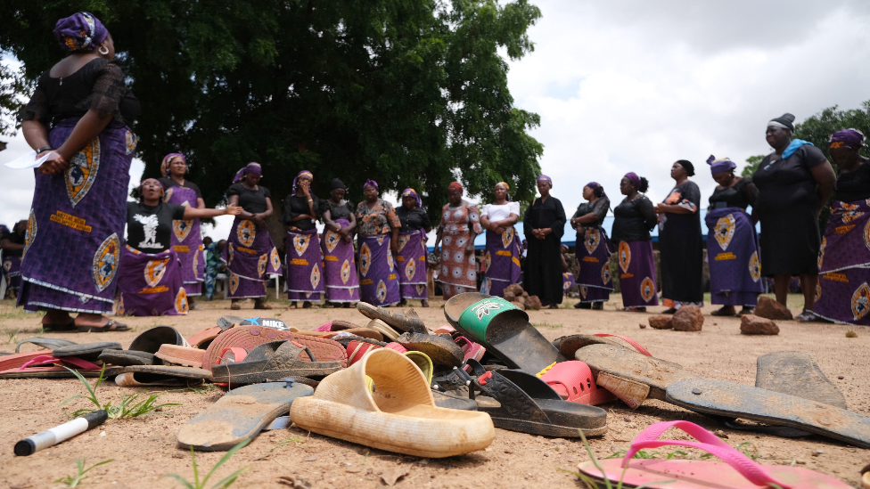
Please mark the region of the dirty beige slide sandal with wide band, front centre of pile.
[[436, 406], [423, 372], [387, 348], [323, 379], [314, 395], [293, 403], [290, 417], [320, 435], [427, 458], [483, 450], [496, 436], [487, 414]]

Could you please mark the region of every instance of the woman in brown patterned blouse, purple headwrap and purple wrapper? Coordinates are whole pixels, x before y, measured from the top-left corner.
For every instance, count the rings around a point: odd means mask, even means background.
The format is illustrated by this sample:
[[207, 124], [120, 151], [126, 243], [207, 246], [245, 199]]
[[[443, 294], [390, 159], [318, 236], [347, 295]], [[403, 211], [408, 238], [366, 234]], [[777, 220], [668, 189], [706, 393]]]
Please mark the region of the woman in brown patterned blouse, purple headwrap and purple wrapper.
[[359, 296], [373, 306], [393, 306], [401, 300], [398, 272], [398, 221], [390, 202], [378, 197], [378, 183], [366, 180], [365, 200], [357, 204], [359, 232]]

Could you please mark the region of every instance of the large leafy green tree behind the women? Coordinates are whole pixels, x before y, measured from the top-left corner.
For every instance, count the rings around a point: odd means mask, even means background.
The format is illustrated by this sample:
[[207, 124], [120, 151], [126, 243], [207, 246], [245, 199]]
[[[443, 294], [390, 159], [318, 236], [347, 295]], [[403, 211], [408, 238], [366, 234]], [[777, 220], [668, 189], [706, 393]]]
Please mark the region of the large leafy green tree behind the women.
[[142, 102], [135, 126], [145, 176], [182, 151], [209, 206], [248, 161], [277, 204], [301, 169], [351, 200], [373, 178], [414, 187], [432, 217], [447, 184], [491, 198], [534, 195], [537, 114], [513, 106], [506, 55], [533, 49], [527, 0], [80, 0], [4, 2], [0, 49], [35, 79], [62, 52], [57, 19], [103, 20]]

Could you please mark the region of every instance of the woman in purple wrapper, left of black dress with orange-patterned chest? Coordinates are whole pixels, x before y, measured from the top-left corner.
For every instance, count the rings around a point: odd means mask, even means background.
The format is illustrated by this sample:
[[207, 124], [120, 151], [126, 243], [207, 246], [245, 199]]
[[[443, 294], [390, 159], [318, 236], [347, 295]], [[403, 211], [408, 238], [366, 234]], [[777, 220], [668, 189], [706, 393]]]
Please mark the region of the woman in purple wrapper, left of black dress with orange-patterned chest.
[[619, 259], [622, 306], [626, 311], [645, 313], [646, 306], [658, 306], [655, 287], [655, 261], [650, 231], [659, 222], [653, 202], [643, 192], [649, 183], [635, 172], [627, 173], [620, 182], [620, 192], [626, 198], [613, 208], [613, 236]]

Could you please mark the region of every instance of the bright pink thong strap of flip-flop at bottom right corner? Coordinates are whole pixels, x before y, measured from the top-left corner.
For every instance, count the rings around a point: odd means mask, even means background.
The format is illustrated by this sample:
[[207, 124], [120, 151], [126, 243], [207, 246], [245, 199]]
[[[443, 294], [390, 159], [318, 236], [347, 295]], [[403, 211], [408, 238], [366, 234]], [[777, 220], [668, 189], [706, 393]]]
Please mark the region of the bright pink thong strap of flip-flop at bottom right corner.
[[[698, 441], [659, 440], [658, 437], [669, 428], [681, 429]], [[639, 450], [644, 448], [659, 448], [661, 446], [669, 445], [687, 446], [712, 453], [737, 470], [740, 475], [746, 477], [746, 480], [754, 485], [768, 486], [770, 484], [776, 484], [783, 489], [791, 488], [791, 485], [785, 485], [777, 481], [767, 472], [767, 469], [764, 469], [764, 467], [759, 463], [751, 460], [743, 453], [738, 452], [731, 445], [720, 440], [718, 436], [710, 433], [710, 431], [707, 431], [690, 421], [662, 421], [644, 429], [644, 431], [636, 436], [635, 441], [631, 443], [631, 448], [626, 452], [625, 457], [622, 458], [622, 467], [627, 468], [628, 462], [631, 461], [631, 457], [633, 457]]]

